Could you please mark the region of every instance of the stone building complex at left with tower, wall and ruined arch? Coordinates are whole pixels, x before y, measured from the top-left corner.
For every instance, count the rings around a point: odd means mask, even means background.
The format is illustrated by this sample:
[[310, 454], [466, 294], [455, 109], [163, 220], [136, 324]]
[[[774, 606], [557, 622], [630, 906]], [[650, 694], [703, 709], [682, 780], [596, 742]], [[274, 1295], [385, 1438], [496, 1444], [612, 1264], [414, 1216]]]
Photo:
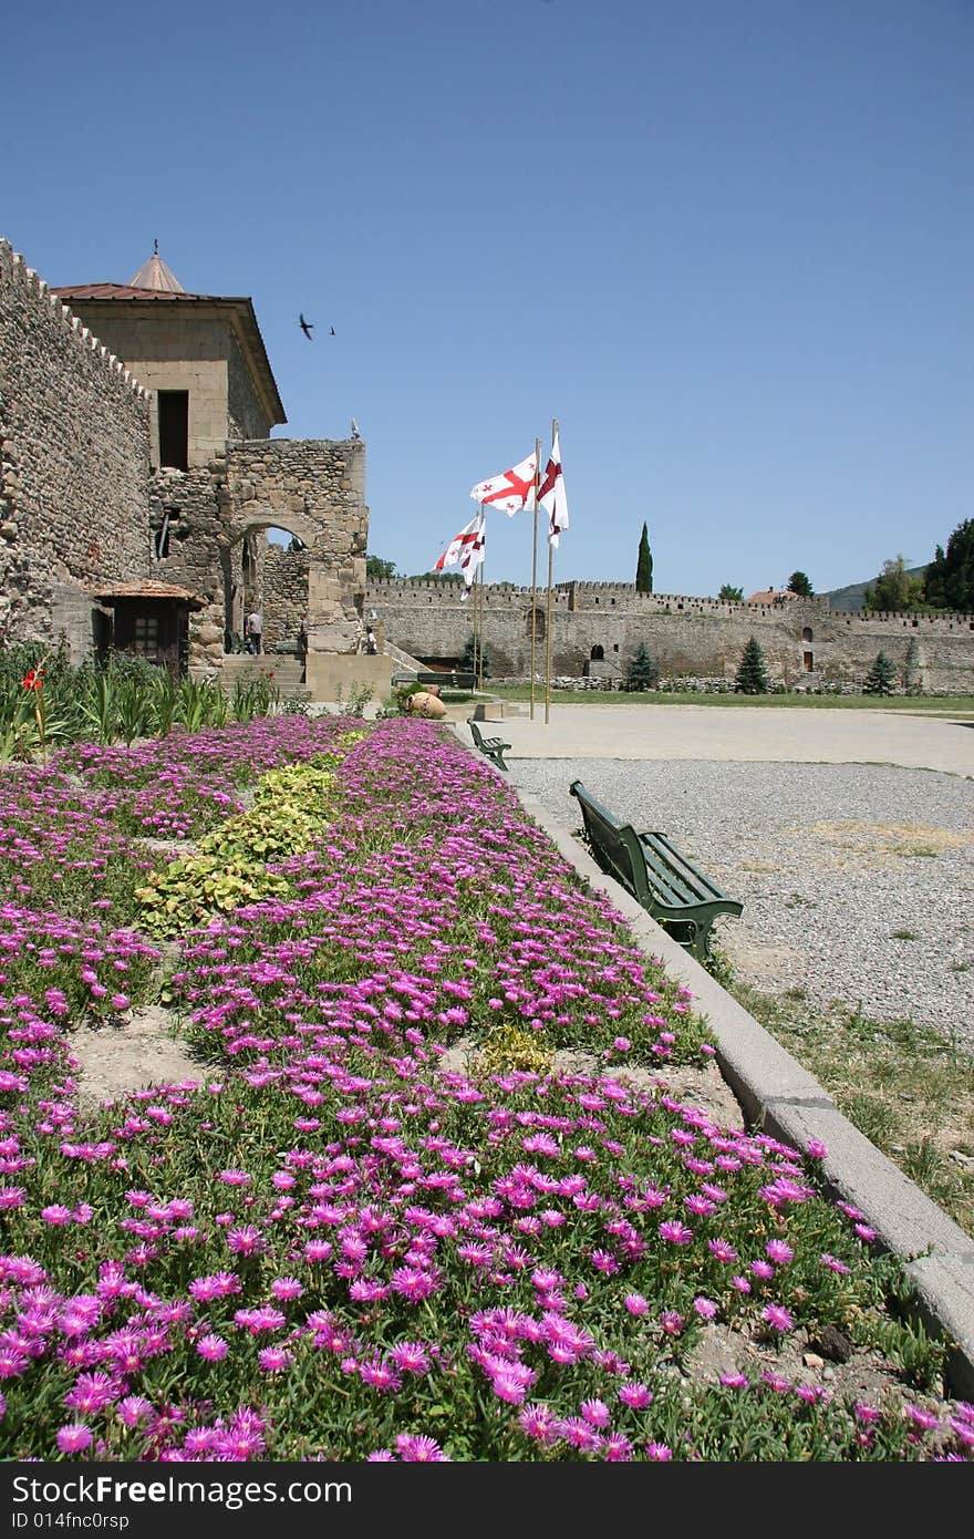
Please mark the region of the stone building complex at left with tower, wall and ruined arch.
[[309, 689], [325, 659], [331, 682], [357, 657], [365, 443], [269, 437], [286, 419], [249, 299], [186, 294], [157, 254], [129, 285], [49, 289], [0, 243], [0, 360], [11, 637], [63, 633], [80, 659], [142, 599], [134, 649], [162, 660], [175, 605], [182, 663], [218, 673], [265, 605], [279, 528], [306, 577], [272, 623], [306, 619]]

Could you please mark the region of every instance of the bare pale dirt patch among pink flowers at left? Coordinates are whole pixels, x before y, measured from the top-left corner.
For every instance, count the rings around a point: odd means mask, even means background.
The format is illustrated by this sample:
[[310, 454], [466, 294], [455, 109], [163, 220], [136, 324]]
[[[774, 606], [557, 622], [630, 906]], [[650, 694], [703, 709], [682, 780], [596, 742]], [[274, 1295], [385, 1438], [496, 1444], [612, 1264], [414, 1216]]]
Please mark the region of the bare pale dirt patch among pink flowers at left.
[[80, 1105], [117, 1100], [148, 1085], [202, 1083], [206, 1065], [191, 1057], [172, 1028], [172, 1016], [162, 1005], [148, 1005], [115, 1023], [77, 1027], [69, 1047], [78, 1062]]

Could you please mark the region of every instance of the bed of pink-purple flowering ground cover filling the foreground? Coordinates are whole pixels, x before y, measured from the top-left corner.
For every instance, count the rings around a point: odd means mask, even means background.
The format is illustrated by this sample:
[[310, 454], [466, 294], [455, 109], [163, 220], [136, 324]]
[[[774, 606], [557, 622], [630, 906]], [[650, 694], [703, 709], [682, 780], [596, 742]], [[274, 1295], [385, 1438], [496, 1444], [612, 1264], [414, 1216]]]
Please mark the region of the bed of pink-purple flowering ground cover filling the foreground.
[[[434, 723], [346, 734], [0, 777], [0, 1457], [969, 1459], [899, 1264], [814, 1157], [668, 1091], [705, 1023], [509, 786]], [[286, 896], [163, 963], [140, 839], [320, 754]], [[158, 997], [198, 1076], [82, 1110], [72, 1028]], [[715, 1331], [760, 1371], [688, 1371]], [[897, 1393], [786, 1371], [828, 1331]]]

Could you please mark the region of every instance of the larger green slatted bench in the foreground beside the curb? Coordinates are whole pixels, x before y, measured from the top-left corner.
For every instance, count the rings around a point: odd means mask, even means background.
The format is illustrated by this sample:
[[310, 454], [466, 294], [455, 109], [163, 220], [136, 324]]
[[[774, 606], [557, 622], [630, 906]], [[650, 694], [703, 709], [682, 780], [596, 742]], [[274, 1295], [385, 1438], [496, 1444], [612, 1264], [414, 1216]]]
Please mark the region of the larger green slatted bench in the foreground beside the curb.
[[671, 930], [674, 940], [705, 962], [711, 925], [719, 914], [740, 914], [743, 903], [722, 893], [666, 834], [637, 834], [632, 823], [623, 823], [589, 796], [582, 780], [572, 780], [569, 791], [579, 800], [585, 833], [602, 870]]

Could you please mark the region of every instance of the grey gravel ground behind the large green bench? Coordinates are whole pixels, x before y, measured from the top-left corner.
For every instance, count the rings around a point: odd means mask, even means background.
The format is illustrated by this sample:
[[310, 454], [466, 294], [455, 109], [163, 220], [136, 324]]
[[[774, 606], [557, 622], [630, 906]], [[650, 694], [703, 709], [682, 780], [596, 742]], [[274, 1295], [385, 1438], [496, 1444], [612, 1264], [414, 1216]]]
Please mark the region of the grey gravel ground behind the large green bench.
[[911, 1016], [974, 1050], [974, 783], [886, 765], [511, 760], [571, 831], [574, 779], [743, 902], [714, 939], [763, 993]]

